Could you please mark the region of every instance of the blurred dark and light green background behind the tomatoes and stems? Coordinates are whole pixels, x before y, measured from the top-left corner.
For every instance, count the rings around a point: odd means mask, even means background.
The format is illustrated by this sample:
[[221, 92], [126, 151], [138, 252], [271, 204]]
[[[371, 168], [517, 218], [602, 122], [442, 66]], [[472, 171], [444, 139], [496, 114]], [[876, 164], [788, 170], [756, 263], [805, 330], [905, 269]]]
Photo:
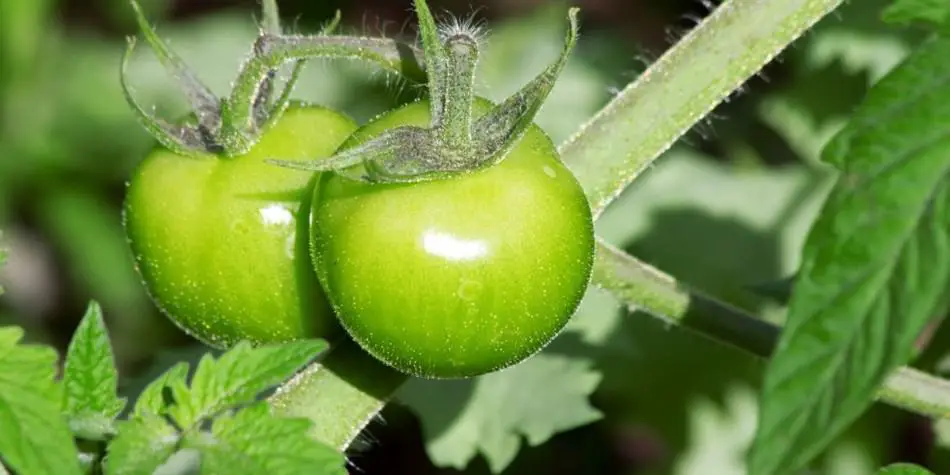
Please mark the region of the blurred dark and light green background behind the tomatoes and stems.
[[[141, 0], [161, 36], [223, 94], [255, 37], [254, 0]], [[491, 33], [481, 94], [500, 99], [561, 48], [566, 2], [431, 0], [476, 12]], [[538, 122], [559, 142], [708, 13], [697, 0], [577, 0], [578, 49]], [[678, 278], [780, 321], [780, 301], [749, 289], [791, 275], [833, 179], [824, 142], [870, 84], [922, 38], [878, 21], [881, 1], [850, 2], [795, 43], [670, 150], [598, 223], [599, 232]], [[282, 0], [285, 25], [317, 31], [336, 9], [346, 33], [411, 38], [409, 0]], [[122, 231], [125, 180], [151, 138], [118, 85], [125, 0], [0, 0], [0, 324], [63, 348], [90, 299], [105, 310], [123, 389], [205, 351], [157, 312], [132, 267]], [[136, 97], [175, 117], [185, 102], [147, 48], [131, 68]], [[351, 63], [312, 62], [295, 96], [359, 121], [417, 89]], [[946, 332], [919, 366], [939, 371]], [[762, 366], [744, 354], [621, 309], [591, 291], [555, 350], [601, 373], [604, 417], [521, 450], [510, 474], [741, 474], [754, 430]], [[424, 384], [424, 383], [420, 383]], [[451, 389], [442, 386], [438, 391]], [[418, 393], [418, 391], [415, 391]], [[441, 393], [429, 393], [441, 397]], [[530, 398], [531, 395], [525, 397]], [[448, 396], [446, 396], [448, 398]], [[437, 468], [412, 387], [368, 432], [354, 473], [459, 473]], [[415, 401], [415, 402], [413, 402]], [[436, 406], [438, 404], [433, 404]], [[436, 411], [436, 409], [432, 409]], [[454, 417], [455, 409], [445, 417]], [[866, 474], [904, 460], [950, 473], [942, 424], [876, 407], [822, 458], [819, 473]], [[443, 463], [444, 465], [444, 463]], [[476, 458], [466, 473], [487, 473]]]

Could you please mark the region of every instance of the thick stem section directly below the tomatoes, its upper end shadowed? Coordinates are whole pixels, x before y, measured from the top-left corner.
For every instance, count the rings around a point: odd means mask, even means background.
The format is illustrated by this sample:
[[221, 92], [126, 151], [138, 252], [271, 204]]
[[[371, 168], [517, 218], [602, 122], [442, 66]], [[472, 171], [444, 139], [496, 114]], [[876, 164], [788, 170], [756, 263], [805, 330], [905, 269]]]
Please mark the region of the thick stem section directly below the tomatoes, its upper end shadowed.
[[346, 450], [408, 379], [347, 339], [268, 402], [277, 414], [310, 419], [314, 439]]

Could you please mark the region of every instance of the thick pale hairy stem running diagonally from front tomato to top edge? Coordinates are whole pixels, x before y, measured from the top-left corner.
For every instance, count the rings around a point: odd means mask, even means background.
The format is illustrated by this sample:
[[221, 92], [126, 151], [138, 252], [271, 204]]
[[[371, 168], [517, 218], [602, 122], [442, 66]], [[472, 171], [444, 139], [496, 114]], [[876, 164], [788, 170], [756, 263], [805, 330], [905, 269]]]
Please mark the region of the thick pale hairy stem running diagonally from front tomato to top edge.
[[598, 216], [690, 127], [843, 0], [728, 0], [561, 145]]

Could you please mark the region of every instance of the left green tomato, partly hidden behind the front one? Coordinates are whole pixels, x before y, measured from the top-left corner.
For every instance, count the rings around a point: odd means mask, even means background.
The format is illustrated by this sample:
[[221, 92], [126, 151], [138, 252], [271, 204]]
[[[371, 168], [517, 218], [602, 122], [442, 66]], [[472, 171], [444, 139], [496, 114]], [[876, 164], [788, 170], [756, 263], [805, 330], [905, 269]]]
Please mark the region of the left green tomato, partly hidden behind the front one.
[[128, 184], [125, 226], [162, 311], [218, 348], [339, 332], [307, 251], [315, 176], [264, 160], [330, 156], [355, 129], [330, 109], [293, 105], [245, 155], [149, 153]]

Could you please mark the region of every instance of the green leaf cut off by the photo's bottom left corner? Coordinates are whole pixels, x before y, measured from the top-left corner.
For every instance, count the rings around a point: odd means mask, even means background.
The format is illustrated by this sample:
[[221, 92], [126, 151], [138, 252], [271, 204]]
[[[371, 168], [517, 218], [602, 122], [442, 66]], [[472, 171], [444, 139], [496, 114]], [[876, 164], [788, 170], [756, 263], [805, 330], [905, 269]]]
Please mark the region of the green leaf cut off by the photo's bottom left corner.
[[23, 330], [0, 328], [0, 457], [17, 473], [81, 473], [79, 453], [60, 413], [56, 352], [18, 344]]

